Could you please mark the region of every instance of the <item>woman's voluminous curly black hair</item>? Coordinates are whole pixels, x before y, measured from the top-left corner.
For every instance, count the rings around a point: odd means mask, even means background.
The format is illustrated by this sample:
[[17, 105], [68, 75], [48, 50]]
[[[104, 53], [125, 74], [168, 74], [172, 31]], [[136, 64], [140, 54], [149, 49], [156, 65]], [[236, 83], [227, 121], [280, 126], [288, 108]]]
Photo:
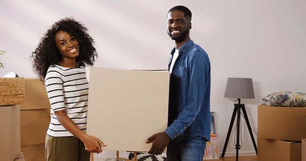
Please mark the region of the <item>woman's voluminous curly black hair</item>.
[[70, 33], [79, 41], [80, 53], [77, 57], [77, 63], [80, 66], [92, 66], [95, 58], [98, 56], [93, 46], [94, 40], [87, 33], [88, 29], [82, 22], [68, 17], [60, 19], [47, 30], [31, 56], [34, 58], [33, 70], [41, 81], [44, 80], [48, 67], [58, 64], [62, 60], [62, 55], [55, 43], [55, 35], [59, 31]]

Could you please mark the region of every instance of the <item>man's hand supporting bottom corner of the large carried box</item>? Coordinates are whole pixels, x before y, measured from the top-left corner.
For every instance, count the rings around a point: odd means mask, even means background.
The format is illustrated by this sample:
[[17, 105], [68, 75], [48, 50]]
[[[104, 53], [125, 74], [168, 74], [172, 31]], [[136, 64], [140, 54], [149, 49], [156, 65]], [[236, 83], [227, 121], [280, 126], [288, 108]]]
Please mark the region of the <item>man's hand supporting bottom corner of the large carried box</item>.
[[159, 132], [155, 135], [151, 136], [149, 139], [145, 141], [145, 143], [152, 143], [151, 149], [149, 150], [149, 154], [160, 155], [163, 153], [166, 146], [169, 144], [170, 137], [166, 132]]

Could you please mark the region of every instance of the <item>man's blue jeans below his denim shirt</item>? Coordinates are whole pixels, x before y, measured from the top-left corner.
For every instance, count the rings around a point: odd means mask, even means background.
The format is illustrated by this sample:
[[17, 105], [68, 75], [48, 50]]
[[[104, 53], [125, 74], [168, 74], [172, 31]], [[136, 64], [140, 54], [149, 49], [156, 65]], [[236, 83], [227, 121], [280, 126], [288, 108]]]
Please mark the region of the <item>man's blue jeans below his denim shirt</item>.
[[170, 140], [167, 161], [202, 161], [205, 148], [206, 140], [201, 136]]

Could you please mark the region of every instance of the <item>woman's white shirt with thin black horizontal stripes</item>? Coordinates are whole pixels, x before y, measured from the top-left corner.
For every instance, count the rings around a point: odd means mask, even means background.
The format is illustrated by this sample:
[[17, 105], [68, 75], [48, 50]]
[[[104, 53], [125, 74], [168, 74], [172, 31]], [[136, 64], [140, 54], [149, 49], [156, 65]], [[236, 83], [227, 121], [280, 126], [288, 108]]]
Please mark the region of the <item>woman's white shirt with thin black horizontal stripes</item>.
[[44, 82], [51, 104], [47, 134], [53, 137], [75, 137], [58, 121], [54, 112], [60, 110], [66, 110], [74, 124], [86, 132], [89, 86], [85, 68], [50, 66]]

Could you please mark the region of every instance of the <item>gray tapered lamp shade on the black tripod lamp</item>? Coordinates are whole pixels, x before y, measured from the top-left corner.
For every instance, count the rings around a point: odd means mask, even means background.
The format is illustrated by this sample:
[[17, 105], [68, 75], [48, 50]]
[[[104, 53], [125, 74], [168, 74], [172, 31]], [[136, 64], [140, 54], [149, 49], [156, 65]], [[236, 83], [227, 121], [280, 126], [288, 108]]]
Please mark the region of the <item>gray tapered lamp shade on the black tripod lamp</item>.
[[252, 78], [227, 78], [225, 98], [255, 98]]

